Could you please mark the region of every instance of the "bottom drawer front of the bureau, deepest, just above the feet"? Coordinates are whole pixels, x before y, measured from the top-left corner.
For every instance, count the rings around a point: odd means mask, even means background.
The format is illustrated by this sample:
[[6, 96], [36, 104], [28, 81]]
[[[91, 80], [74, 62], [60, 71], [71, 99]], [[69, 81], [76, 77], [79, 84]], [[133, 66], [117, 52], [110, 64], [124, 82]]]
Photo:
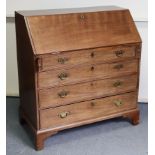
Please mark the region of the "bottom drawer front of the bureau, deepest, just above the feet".
[[40, 111], [40, 127], [63, 127], [137, 107], [137, 93], [106, 97]]

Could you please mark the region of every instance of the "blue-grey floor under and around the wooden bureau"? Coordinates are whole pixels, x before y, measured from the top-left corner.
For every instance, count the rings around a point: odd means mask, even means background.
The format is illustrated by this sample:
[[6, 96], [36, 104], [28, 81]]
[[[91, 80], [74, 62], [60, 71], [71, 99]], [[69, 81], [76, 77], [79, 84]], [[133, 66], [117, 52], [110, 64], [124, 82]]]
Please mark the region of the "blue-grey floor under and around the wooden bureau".
[[18, 122], [18, 98], [7, 98], [7, 155], [146, 155], [147, 104], [139, 104], [141, 121], [132, 126], [112, 119], [59, 132], [35, 151], [30, 134]]

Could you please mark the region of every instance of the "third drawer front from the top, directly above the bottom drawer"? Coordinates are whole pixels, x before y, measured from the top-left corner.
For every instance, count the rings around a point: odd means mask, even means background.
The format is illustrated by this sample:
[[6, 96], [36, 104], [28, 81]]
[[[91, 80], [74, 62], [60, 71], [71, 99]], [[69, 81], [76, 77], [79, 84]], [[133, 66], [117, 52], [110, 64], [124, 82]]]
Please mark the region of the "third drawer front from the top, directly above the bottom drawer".
[[80, 83], [39, 91], [40, 108], [80, 102], [87, 99], [133, 91], [137, 75]]

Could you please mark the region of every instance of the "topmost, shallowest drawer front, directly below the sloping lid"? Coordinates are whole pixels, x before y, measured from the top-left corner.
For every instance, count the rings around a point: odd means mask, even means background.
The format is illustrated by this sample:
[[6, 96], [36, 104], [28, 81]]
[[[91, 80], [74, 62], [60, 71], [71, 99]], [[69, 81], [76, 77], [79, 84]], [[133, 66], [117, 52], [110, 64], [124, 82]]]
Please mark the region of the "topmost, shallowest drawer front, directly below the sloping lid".
[[[135, 57], [135, 46], [114, 46], [96, 48], [42, 57], [40, 71], [52, 68], [71, 67], [83, 63], [96, 63], [107, 61], [120, 61], [125, 58]], [[40, 64], [39, 64], [40, 65]]]

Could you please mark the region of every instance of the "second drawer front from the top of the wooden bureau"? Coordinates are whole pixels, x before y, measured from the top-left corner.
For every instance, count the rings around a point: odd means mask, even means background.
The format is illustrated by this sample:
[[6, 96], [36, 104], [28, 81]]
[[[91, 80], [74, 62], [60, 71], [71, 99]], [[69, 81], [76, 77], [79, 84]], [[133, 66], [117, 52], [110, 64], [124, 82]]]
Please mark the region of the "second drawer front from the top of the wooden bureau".
[[71, 69], [52, 70], [38, 74], [39, 88], [61, 86], [95, 79], [127, 75], [138, 70], [138, 60], [81, 65]]

